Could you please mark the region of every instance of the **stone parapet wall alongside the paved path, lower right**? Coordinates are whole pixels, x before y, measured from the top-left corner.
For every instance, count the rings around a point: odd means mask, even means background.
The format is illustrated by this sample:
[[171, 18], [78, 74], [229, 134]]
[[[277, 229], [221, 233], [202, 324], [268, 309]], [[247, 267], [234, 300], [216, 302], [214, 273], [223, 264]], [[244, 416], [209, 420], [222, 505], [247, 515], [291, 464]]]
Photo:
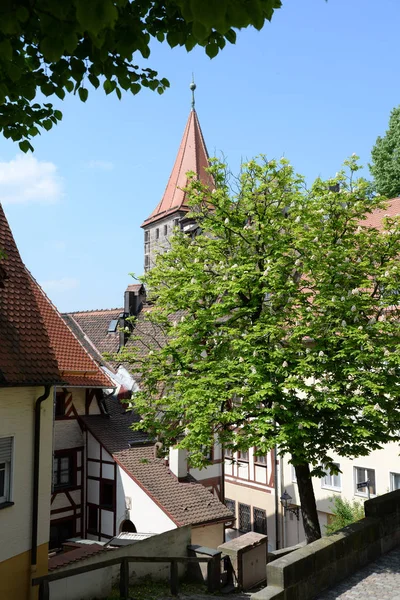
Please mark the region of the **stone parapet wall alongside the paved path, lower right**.
[[400, 490], [365, 502], [365, 518], [267, 565], [252, 600], [312, 600], [400, 545]]

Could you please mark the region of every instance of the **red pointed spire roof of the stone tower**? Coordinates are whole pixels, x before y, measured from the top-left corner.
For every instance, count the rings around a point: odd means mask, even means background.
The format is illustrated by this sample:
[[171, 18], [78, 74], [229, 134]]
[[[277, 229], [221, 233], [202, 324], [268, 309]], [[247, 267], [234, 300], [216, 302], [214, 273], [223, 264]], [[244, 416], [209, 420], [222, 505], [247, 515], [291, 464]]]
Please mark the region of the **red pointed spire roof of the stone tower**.
[[174, 168], [172, 169], [162, 200], [151, 215], [143, 222], [142, 227], [146, 227], [146, 225], [174, 212], [188, 210], [186, 193], [183, 191], [188, 183], [186, 175], [188, 171], [196, 173], [197, 177], [204, 184], [213, 188], [212, 177], [205, 171], [207, 167], [208, 152], [197, 113], [193, 109], [186, 123]]

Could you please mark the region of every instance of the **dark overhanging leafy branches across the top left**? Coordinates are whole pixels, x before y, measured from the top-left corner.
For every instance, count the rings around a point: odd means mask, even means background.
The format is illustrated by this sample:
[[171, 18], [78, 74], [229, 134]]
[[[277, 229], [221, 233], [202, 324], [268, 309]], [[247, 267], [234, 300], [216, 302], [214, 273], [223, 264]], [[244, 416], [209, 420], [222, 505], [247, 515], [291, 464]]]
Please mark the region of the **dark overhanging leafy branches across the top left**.
[[[0, 131], [33, 150], [39, 127], [62, 114], [38, 91], [61, 100], [67, 92], [86, 102], [91, 86], [121, 98], [142, 86], [163, 93], [168, 80], [138, 65], [158, 40], [210, 58], [235, 29], [261, 29], [281, 0], [2, 0], [0, 2]], [[139, 56], [141, 55], [141, 56]]]

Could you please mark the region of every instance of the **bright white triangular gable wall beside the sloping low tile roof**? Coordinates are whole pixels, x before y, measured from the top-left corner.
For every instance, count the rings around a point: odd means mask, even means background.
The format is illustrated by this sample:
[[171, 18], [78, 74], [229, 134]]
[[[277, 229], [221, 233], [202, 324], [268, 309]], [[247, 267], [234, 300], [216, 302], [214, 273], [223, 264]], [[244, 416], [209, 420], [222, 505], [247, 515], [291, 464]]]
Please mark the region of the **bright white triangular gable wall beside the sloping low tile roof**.
[[[126, 511], [125, 497], [131, 498], [132, 508]], [[120, 467], [117, 468], [117, 531], [129, 518], [139, 533], [162, 533], [176, 524]]]

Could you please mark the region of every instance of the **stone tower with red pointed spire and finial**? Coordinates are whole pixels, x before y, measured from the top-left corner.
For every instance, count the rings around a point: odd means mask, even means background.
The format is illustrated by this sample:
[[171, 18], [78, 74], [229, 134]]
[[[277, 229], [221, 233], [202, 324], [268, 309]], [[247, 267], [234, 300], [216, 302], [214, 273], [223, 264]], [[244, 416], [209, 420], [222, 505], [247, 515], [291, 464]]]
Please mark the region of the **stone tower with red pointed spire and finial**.
[[188, 212], [186, 192], [187, 172], [193, 171], [204, 184], [214, 187], [212, 177], [206, 173], [208, 152], [194, 106], [196, 84], [190, 84], [192, 90], [192, 110], [190, 111], [175, 164], [161, 201], [151, 215], [142, 223], [144, 230], [144, 270], [154, 264], [157, 253], [169, 248], [169, 239], [174, 227], [180, 225]]

